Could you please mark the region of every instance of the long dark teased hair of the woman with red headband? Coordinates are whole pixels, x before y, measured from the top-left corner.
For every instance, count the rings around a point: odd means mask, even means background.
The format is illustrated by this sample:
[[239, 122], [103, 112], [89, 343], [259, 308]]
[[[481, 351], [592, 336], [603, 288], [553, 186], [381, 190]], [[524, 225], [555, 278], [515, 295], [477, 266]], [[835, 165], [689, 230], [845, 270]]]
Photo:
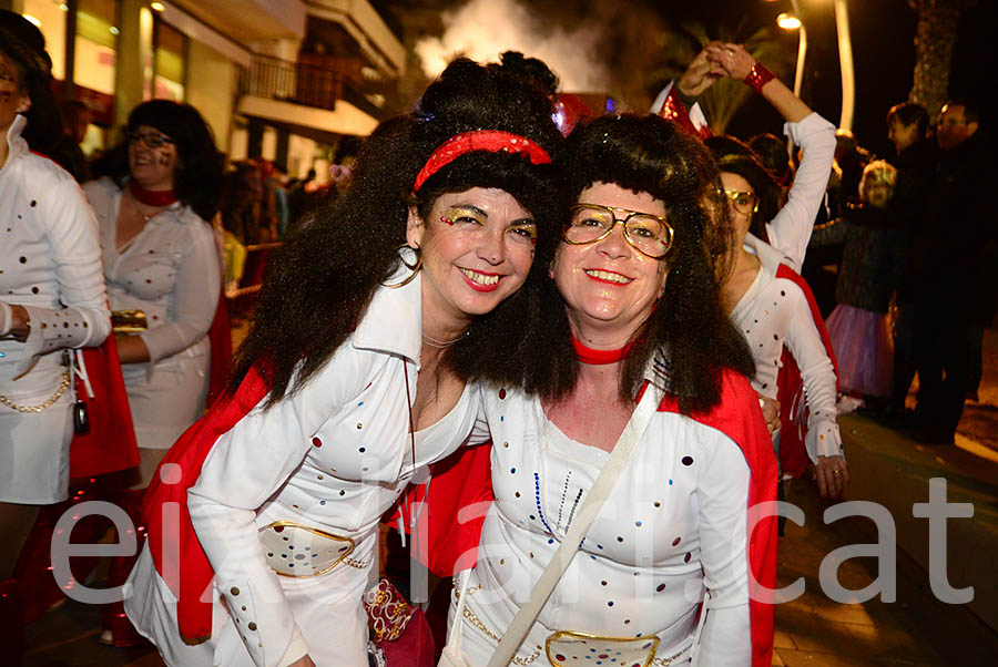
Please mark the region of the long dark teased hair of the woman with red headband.
[[[557, 157], [561, 134], [551, 103], [501, 66], [452, 62], [426, 90], [416, 111], [383, 123], [361, 146], [349, 188], [308, 213], [276, 253], [240, 348], [230, 389], [249, 368], [268, 381], [267, 404], [304, 386], [356, 328], [375, 290], [400, 266], [409, 206], [428, 211], [444, 193], [497, 187], [529, 209], [538, 244], [527, 284], [469, 335], [442, 363], [462, 379], [522, 378], [518, 355], [537, 338], [540, 287], [548, 283], [562, 215], [553, 165], [522, 155], [475, 151], [440, 168], [413, 194], [416, 174], [446, 140], [473, 130], [526, 136]], [[292, 378], [294, 377], [294, 384]]]

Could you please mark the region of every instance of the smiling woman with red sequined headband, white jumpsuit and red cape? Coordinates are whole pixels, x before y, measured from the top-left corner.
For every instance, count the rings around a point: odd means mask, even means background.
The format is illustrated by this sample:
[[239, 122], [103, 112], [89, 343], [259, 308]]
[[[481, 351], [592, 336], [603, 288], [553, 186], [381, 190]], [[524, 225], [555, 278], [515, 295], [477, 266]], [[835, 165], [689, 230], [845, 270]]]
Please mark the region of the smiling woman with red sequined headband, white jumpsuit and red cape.
[[[288, 242], [234, 393], [150, 489], [125, 609], [169, 665], [367, 664], [379, 517], [471, 431], [466, 382], [509, 371], [538, 336], [560, 141], [543, 94], [456, 61]], [[174, 499], [179, 535], [162, 519]]]

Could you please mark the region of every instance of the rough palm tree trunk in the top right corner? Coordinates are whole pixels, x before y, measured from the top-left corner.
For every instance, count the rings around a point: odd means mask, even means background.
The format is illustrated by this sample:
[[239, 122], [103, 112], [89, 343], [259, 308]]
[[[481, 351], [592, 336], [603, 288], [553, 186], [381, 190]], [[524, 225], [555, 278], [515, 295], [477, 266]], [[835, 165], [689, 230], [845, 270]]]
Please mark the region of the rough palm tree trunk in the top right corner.
[[946, 102], [953, 49], [963, 13], [977, 0], [908, 0], [918, 12], [915, 31], [915, 84], [910, 99], [935, 117]]

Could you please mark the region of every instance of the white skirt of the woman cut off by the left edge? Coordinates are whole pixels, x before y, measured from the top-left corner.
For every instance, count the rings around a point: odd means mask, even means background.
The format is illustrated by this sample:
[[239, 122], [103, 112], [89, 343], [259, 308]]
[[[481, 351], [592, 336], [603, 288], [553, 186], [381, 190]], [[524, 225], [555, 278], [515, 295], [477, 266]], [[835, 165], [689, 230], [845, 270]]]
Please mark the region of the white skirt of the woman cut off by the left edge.
[[[42, 404], [59, 388], [62, 371], [42, 358], [24, 378], [0, 387], [0, 393], [18, 406]], [[0, 502], [49, 505], [69, 497], [72, 406], [70, 389], [41, 412], [0, 404]]]

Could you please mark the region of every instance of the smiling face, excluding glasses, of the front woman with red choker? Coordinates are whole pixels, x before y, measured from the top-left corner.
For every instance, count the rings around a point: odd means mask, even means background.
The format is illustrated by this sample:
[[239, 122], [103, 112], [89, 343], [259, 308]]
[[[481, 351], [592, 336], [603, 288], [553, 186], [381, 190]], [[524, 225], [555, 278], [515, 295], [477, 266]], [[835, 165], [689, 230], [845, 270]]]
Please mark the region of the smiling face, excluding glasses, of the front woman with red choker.
[[[661, 199], [612, 183], [592, 184], [579, 202], [665, 217]], [[608, 345], [623, 345], [648, 319], [665, 288], [666, 274], [664, 259], [652, 259], [628, 243], [623, 225], [590, 244], [562, 243], [553, 267], [576, 336]]]

